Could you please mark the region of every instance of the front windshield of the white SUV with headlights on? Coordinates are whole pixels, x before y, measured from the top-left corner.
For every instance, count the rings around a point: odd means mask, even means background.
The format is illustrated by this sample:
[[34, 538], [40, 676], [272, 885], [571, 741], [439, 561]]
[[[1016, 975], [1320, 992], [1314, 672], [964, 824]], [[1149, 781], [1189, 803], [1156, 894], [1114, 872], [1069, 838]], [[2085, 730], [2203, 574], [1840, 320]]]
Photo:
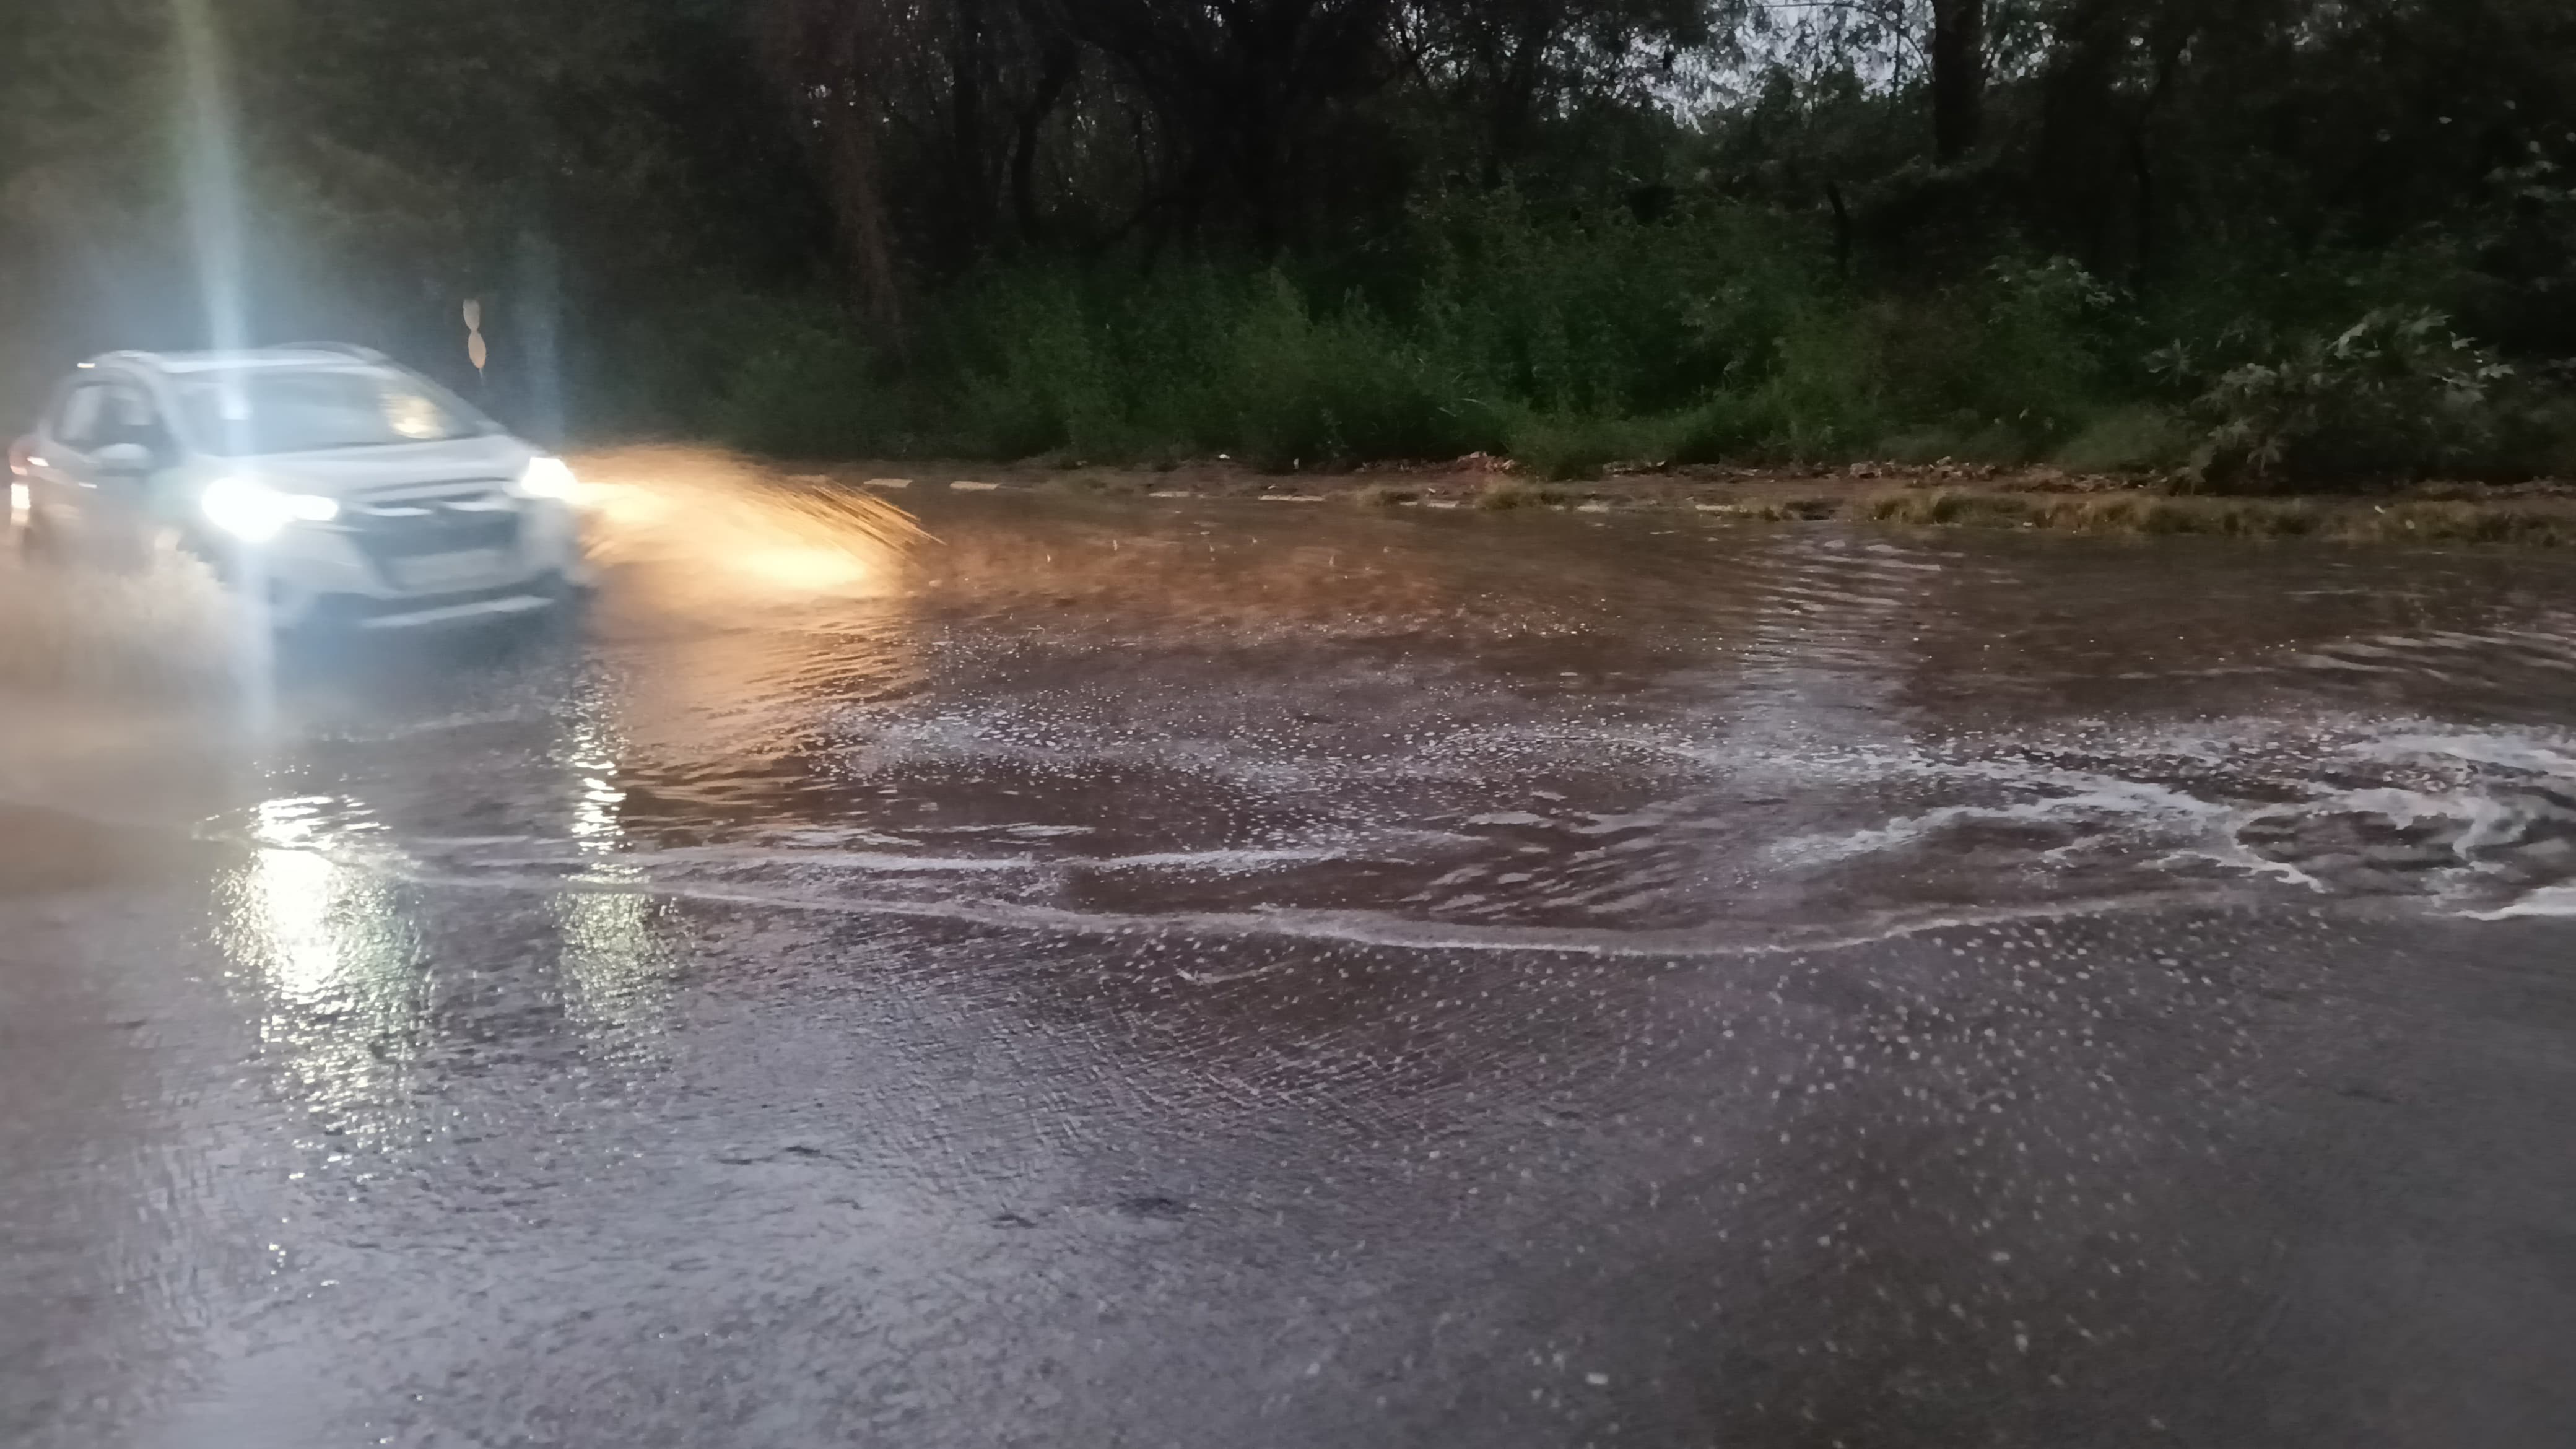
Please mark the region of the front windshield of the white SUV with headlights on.
[[185, 376], [175, 389], [188, 436], [219, 456], [438, 443], [492, 431], [446, 389], [384, 369], [245, 369]]

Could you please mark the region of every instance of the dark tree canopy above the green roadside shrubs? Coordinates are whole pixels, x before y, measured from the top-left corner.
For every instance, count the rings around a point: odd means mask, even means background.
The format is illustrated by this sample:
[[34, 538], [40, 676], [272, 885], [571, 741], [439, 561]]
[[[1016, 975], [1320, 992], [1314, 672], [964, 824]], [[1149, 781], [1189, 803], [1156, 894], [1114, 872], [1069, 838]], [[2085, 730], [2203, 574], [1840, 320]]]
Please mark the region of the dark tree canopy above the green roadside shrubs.
[[1030, 268], [1417, 325], [1502, 245], [1427, 219], [1497, 204], [1726, 211], [1847, 294], [2066, 258], [2205, 353], [2372, 304], [2576, 353], [2563, 0], [18, 0], [21, 387], [206, 330], [191, 10], [258, 333], [433, 353], [544, 297], [603, 415], [824, 312], [876, 369], [953, 351]]

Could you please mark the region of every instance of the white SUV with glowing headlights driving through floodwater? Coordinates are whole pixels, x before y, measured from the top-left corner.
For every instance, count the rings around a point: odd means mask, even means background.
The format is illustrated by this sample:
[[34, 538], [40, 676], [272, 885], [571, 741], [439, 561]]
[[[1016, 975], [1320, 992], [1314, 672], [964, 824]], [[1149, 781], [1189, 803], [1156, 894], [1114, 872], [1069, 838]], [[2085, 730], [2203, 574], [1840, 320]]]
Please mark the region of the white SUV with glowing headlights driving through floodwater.
[[278, 629], [536, 614], [582, 583], [572, 469], [363, 348], [108, 353], [10, 472], [28, 554], [175, 541]]

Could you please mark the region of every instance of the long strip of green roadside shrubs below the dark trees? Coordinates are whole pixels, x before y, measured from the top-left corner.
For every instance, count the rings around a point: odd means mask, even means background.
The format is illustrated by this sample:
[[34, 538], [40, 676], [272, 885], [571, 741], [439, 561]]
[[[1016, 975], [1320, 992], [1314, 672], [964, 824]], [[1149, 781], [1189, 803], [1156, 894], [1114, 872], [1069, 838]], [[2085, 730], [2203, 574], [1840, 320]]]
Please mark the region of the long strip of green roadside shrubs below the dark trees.
[[[1260, 467], [1510, 454], [1613, 462], [1942, 456], [2190, 467], [2213, 490], [2545, 472], [2568, 433], [2530, 379], [2429, 309], [2138, 307], [2071, 260], [1870, 294], [1811, 240], [1713, 206], [1425, 217], [1370, 294], [1278, 268], [994, 268], [909, 356], [845, 317], [773, 325], [706, 425], [768, 451]], [[2316, 315], [2300, 315], [2316, 307]], [[2228, 317], [2148, 348], [2159, 327]]]

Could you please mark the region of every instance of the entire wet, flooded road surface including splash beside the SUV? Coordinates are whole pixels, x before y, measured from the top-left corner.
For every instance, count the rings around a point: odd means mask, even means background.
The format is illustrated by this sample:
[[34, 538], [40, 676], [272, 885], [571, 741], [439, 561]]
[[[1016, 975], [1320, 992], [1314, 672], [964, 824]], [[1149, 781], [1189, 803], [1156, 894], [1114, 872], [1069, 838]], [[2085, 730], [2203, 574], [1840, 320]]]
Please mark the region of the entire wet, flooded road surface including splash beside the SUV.
[[2568, 562], [598, 474], [13, 583], [0, 1444], [2576, 1444]]

